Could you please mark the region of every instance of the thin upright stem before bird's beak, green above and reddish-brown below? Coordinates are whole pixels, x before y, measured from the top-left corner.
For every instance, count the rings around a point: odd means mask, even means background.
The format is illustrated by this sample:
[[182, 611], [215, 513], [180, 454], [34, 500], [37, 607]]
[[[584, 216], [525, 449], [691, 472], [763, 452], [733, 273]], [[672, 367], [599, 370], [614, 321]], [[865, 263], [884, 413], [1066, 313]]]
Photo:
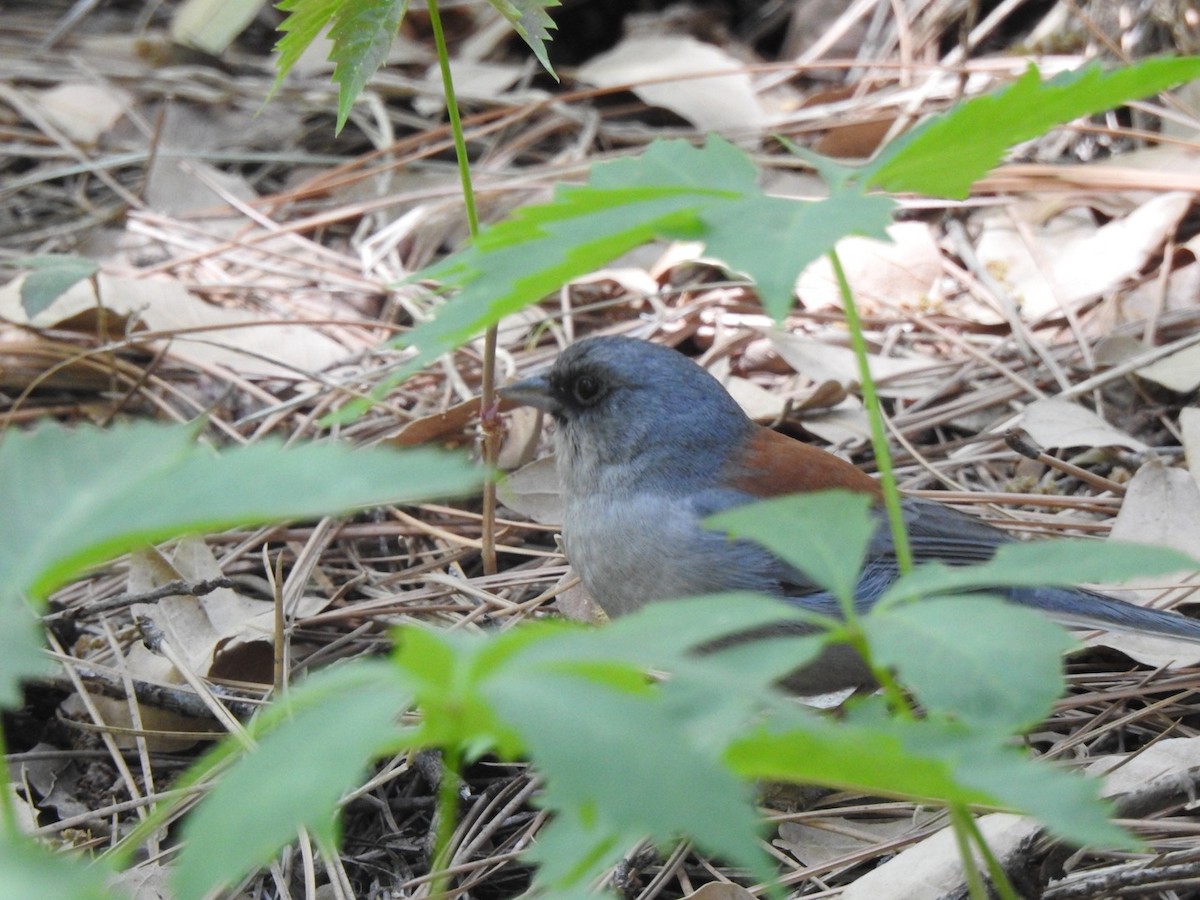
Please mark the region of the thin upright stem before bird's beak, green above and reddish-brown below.
[[[454, 134], [454, 151], [458, 161], [458, 180], [462, 182], [462, 200], [467, 209], [467, 229], [472, 239], [479, 235], [479, 214], [475, 210], [475, 190], [470, 180], [470, 157], [467, 156], [467, 138], [462, 131], [462, 116], [458, 114], [458, 98], [454, 90], [454, 76], [450, 72], [450, 52], [446, 49], [445, 31], [442, 29], [442, 14], [437, 0], [426, 0], [430, 10], [430, 29], [433, 31], [433, 43], [438, 52], [438, 67], [442, 70], [442, 91], [446, 98], [446, 115], [450, 118], [450, 132]], [[484, 334], [484, 376], [480, 385], [480, 424], [484, 433], [484, 463], [496, 468], [500, 452], [499, 422], [494, 414], [496, 407], [496, 341], [498, 328], [491, 325]], [[484, 521], [482, 558], [484, 574], [496, 574], [496, 481], [491, 478], [484, 482]]]

